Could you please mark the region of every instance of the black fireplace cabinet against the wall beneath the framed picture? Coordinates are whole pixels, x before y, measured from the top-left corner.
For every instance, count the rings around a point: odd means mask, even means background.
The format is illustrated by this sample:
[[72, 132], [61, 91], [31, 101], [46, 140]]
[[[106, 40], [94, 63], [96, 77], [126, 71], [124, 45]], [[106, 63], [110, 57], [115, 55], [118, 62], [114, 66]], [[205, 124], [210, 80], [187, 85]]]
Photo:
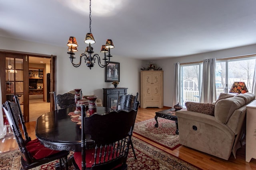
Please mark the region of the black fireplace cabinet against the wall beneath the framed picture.
[[116, 106], [118, 92], [119, 96], [127, 94], [128, 88], [103, 88], [103, 106], [111, 108]]

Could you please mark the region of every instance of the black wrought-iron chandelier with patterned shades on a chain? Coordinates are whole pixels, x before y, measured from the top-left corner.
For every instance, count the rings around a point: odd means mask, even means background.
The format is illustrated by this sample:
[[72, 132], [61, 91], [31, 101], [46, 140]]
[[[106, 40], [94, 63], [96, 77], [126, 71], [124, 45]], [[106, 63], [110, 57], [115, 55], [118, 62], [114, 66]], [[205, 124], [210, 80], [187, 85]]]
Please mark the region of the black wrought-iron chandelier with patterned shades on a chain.
[[[78, 47], [78, 44], [76, 42], [76, 38], [75, 37], [69, 37], [69, 40], [68, 40], [68, 54], [70, 55], [70, 62], [72, 63], [72, 65], [74, 67], [79, 67], [81, 65], [81, 61], [82, 61], [82, 57], [84, 57], [84, 62], [86, 63], [86, 65], [91, 69], [93, 66], [94, 66], [94, 63], [95, 63], [95, 60], [97, 58], [98, 60], [98, 64], [100, 67], [104, 68], [105, 66], [107, 66], [110, 62], [110, 57], [112, 57], [112, 55], [110, 55], [110, 49], [114, 48], [114, 44], [112, 42], [111, 39], [107, 39], [106, 40], [106, 44], [105, 45], [102, 45], [101, 46], [101, 50], [100, 52], [101, 53], [104, 53], [104, 58], [102, 60], [104, 60], [104, 64], [101, 63], [100, 61], [100, 55], [98, 54], [94, 54], [93, 55], [93, 48], [92, 48], [92, 44], [95, 43], [95, 40], [94, 40], [94, 37], [92, 35], [92, 32], [91, 32], [91, 24], [92, 24], [92, 20], [91, 20], [91, 0], [90, 0], [90, 14], [89, 14], [89, 18], [90, 18], [90, 33], [87, 33], [86, 34], [86, 37], [84, 39], [84, 43], [88, 44], [89, 46], [86, 47], [84, 53], [82, 53], [80, 55], [80, 62], [78, 64], [75, 64], [73, 63], [73, 59], [75, 59], [76, 57], [74, 57], [76, 51], [77, 50], [77, 47]], [[107, 53], [107, 54], [106, 54]]]

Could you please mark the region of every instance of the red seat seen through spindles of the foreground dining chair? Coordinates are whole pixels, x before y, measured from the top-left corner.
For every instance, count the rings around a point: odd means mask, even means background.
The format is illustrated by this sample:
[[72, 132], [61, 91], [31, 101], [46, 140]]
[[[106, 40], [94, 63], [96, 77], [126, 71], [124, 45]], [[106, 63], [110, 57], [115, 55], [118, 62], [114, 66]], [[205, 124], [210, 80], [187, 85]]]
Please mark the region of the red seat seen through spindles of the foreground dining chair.
[[[110, 151], [110, 160], [112, 160], [112, 147], [111, 147], [111, 151]], [[106, 148], [102, 148], [102, 154], [105, 152]], [[87, 149], [86, 150], [86, 156], [85, 156], [85, 161], [86, 161], [86, 168], [91, 168], [93, 163], [94, 163], [94, 151], [95, 149]], [[109, 152], [109, 146], [107, 147], [106, 153], [108, 154]], [[100, 154], [100, 149], [97, 150], [97, 154]], [[114, 152], [114, 156], [118, 157], [119, 154], [116, 155], [116, 152]], [[82, 169], [82, 153], [81, 152], [74, 152], [74, 160], [76, 162], [76, 164], [78, 165], [79, 169]], [[108, 156], [106, 156], [105, 161], [108, 162]], [[96, 163], [99, 162], [99, 156], [97, 156], [96, 158]], [[101, 157], [101, 161], [100, 162], [104, 162], [104, 156]], [[116, 166], [115, 168], [118, 168], [119, 166], [122, 166], [122, 164]]]

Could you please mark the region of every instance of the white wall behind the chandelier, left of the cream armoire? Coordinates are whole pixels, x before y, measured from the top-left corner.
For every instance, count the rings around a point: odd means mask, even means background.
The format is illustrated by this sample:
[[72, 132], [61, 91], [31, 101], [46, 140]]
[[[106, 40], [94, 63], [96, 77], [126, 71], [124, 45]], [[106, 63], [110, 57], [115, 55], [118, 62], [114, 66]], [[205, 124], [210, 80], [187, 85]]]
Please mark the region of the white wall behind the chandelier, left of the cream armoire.
[[[65, 44], [66, 41], [63, 43]], [[105, 82], [105, 68], [100, 68], [98, 63], [95, 63], [91, 70], [86, 66], [84, 60], [82, 60], [83, 63], [80, 67], [75, 68], [72, 66], [68, 58], [67, 47], [56, 47], [5, 37], [0, 37], [0, 44], [0, 51], [8, 50], [36, 53], [38, 55], [56, 55], [56, 94], [63, 94], [74, 88], [82, 88], [84, 95], [95, 94], [98, 98], [103, 99], [102, 88], [114, 87], [111, 82]], [[140, 93], [140, 68], [142, 61], [116, 56], [114, 49], [112, 50], [112, 55], [111, 61], [120, 63], [120, 83], [118, 87], [128, 88], [127, 92], [129, 94]], [[78, 62], [79, 56], [80, 53], [75, 55], [75, 63]]]

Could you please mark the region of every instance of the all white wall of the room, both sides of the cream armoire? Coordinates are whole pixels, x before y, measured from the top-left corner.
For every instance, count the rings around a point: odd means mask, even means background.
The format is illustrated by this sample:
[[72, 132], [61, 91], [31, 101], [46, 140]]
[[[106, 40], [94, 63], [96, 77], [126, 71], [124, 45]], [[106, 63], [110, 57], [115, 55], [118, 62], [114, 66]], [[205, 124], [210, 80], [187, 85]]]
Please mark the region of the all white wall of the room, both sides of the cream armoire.
[[[66, 42], [64, 42], [66, 43]], [[0, 37], [1, 49], [11, 51], [21, 51], [26, 53], [37, 53], [43, 55], [56, 55], [56, 93], [63, 94], [74, 88], [82, 88], [84, 95], [95, 94], [103, 98], [102, 88], [113, 87], [111, 82], [105, 82], [105, 68], [100, 68], [97, 63], [90, 70], [85, 63], [78, 68], [72, 66], [69, 61], [66, 47], [56, 47], [52, 45], [21, 41], [17, 39], [8, 39]], [[95, 46], [95, 45], [94, 45]], [[0, 51], [4, 51], [1, 50]], [[256, 54], [256, 45], [238, 47], [214, 51], [210, 53], [201, 53], [184, 57], [170, 59], [151, 60], [164, 70], [164, 106], [172, 107], [173, 96], [173, 72], [174, 63], [188, 63], [194, 61], [203, 61], [210, 58], [227, 58], [241, 55]], [[140, 68], [146, 66], [148, 61], [128, 59], [122, 56], [115, 56], [112, 50], [112, 61], [120, 63], [120, 83], [118, 87], [127, 87], [129, 94], [140, 93]], [[76, 54], [79, 57], [79, 53]], [[140, 99], [140, 98], [139, 98]]]

